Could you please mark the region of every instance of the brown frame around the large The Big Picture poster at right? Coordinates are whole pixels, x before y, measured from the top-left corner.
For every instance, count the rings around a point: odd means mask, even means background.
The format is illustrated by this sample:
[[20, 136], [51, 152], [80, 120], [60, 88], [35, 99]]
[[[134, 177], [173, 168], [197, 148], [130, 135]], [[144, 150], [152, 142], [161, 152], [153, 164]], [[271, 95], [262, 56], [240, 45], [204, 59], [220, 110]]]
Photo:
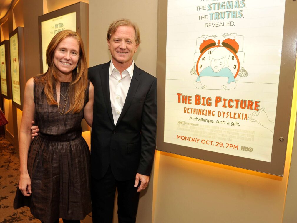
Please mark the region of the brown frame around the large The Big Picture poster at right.
[[285, 157], [290, 125], [290, 114], [293, 98], [293, 83], [296, 65], [296, 33], [294, 9], [296, 1], [285, 1], [285, 18], [283, 28], [282, 56], [277, 96], [277, 109], [274, 126], [274, 137], [271, 151], [271, 162], [259, 161], [234, 155], [212, 152], [187, 146], [164, 142], [165, 119], [165, 81], [166, 81], [166, 38], [167, 38], [167, 1], [158, 0], [158, 123], [157, 150], [197, 158], [214, 163], [263, 172], [283, 177]]

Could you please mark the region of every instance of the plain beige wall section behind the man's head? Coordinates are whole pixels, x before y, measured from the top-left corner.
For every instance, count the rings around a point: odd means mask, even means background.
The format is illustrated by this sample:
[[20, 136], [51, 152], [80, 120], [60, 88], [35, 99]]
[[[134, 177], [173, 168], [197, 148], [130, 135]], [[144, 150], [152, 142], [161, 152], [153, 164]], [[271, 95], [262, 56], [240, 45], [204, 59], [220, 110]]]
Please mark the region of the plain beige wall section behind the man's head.
[[111, 59], [106, 41], [108, 27], [116, 19], [128, 18], [140, 29], [141, 44], [134, 54], [135, 64], [156, 76], [157, 3], [157, 0], [90, 0], [90, 66]]

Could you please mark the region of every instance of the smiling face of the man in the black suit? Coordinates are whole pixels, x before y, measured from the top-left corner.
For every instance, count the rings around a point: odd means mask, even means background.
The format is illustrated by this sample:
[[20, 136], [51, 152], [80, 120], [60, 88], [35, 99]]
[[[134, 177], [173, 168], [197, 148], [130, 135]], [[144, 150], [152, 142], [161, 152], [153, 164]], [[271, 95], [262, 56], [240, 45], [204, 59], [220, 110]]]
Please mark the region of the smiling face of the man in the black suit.
[[116, 32], [107, 40], [113, 65], [132, 64], [132, 57], [137, 51], [138, 45], [135, 41], [135, 30], [132, 26], [121, 25]]

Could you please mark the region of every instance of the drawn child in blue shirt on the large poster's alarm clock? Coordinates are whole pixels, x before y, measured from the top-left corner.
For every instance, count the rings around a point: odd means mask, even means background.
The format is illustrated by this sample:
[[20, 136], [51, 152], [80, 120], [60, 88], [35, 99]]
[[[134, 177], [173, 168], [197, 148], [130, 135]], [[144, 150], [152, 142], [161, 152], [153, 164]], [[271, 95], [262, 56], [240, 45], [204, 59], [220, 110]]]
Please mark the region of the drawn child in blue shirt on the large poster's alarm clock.
[[230, 57], [230, 52], [225, 47], [215, 48], [209, 57], [210, 66], [204, 68], [201, 71], [198, 78], [195, 82], [195, 87], [198, 89], [206, 88], [206, 85], [202, 84], [200, 77], [209, 76], [209, 77], [227, 77], [227, 84], [222, 85], [222, 88], [225, 90], [234, 89], [236, 87], [236, 82], [233, 76], [233, 73], [228, 68], [228, 60]]

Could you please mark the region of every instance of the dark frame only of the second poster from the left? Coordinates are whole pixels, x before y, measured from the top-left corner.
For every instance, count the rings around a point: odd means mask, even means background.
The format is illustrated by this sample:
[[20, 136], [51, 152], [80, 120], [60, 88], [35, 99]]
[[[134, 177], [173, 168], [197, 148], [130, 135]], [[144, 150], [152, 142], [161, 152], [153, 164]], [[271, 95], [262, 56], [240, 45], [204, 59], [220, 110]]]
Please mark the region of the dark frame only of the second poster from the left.
[[[11, 92], [11, 98], [12, 98], [12, 105], [17, 107], [20, 110], [23, 110], [23, 98], [24, 98], [24, 89], [23, 86], [25, 86], [25, 63], [24, 63], [24, 28], [23, 27], [17, 27], [15, 30], [13, 30], [11, 33], [9, 33], [9, 39], [10, 37], [14, 36], [15, 34], [18, 34], [18, 63], [19, 63], [19, 78], [20, 78], [20, 105], [13, 101], [13, 96]], [[9, 51], [11, 52], [10, 48]], [[10, 58], [9, 61], [11, 62]], [[11, 64], [10, 64], [11, 68]], [[11, 72], [10, 72], [11, 77]], [[11, 78], [12, 81], [12, 78]], [[12, 91], [12, 89], [11, 89]]]

